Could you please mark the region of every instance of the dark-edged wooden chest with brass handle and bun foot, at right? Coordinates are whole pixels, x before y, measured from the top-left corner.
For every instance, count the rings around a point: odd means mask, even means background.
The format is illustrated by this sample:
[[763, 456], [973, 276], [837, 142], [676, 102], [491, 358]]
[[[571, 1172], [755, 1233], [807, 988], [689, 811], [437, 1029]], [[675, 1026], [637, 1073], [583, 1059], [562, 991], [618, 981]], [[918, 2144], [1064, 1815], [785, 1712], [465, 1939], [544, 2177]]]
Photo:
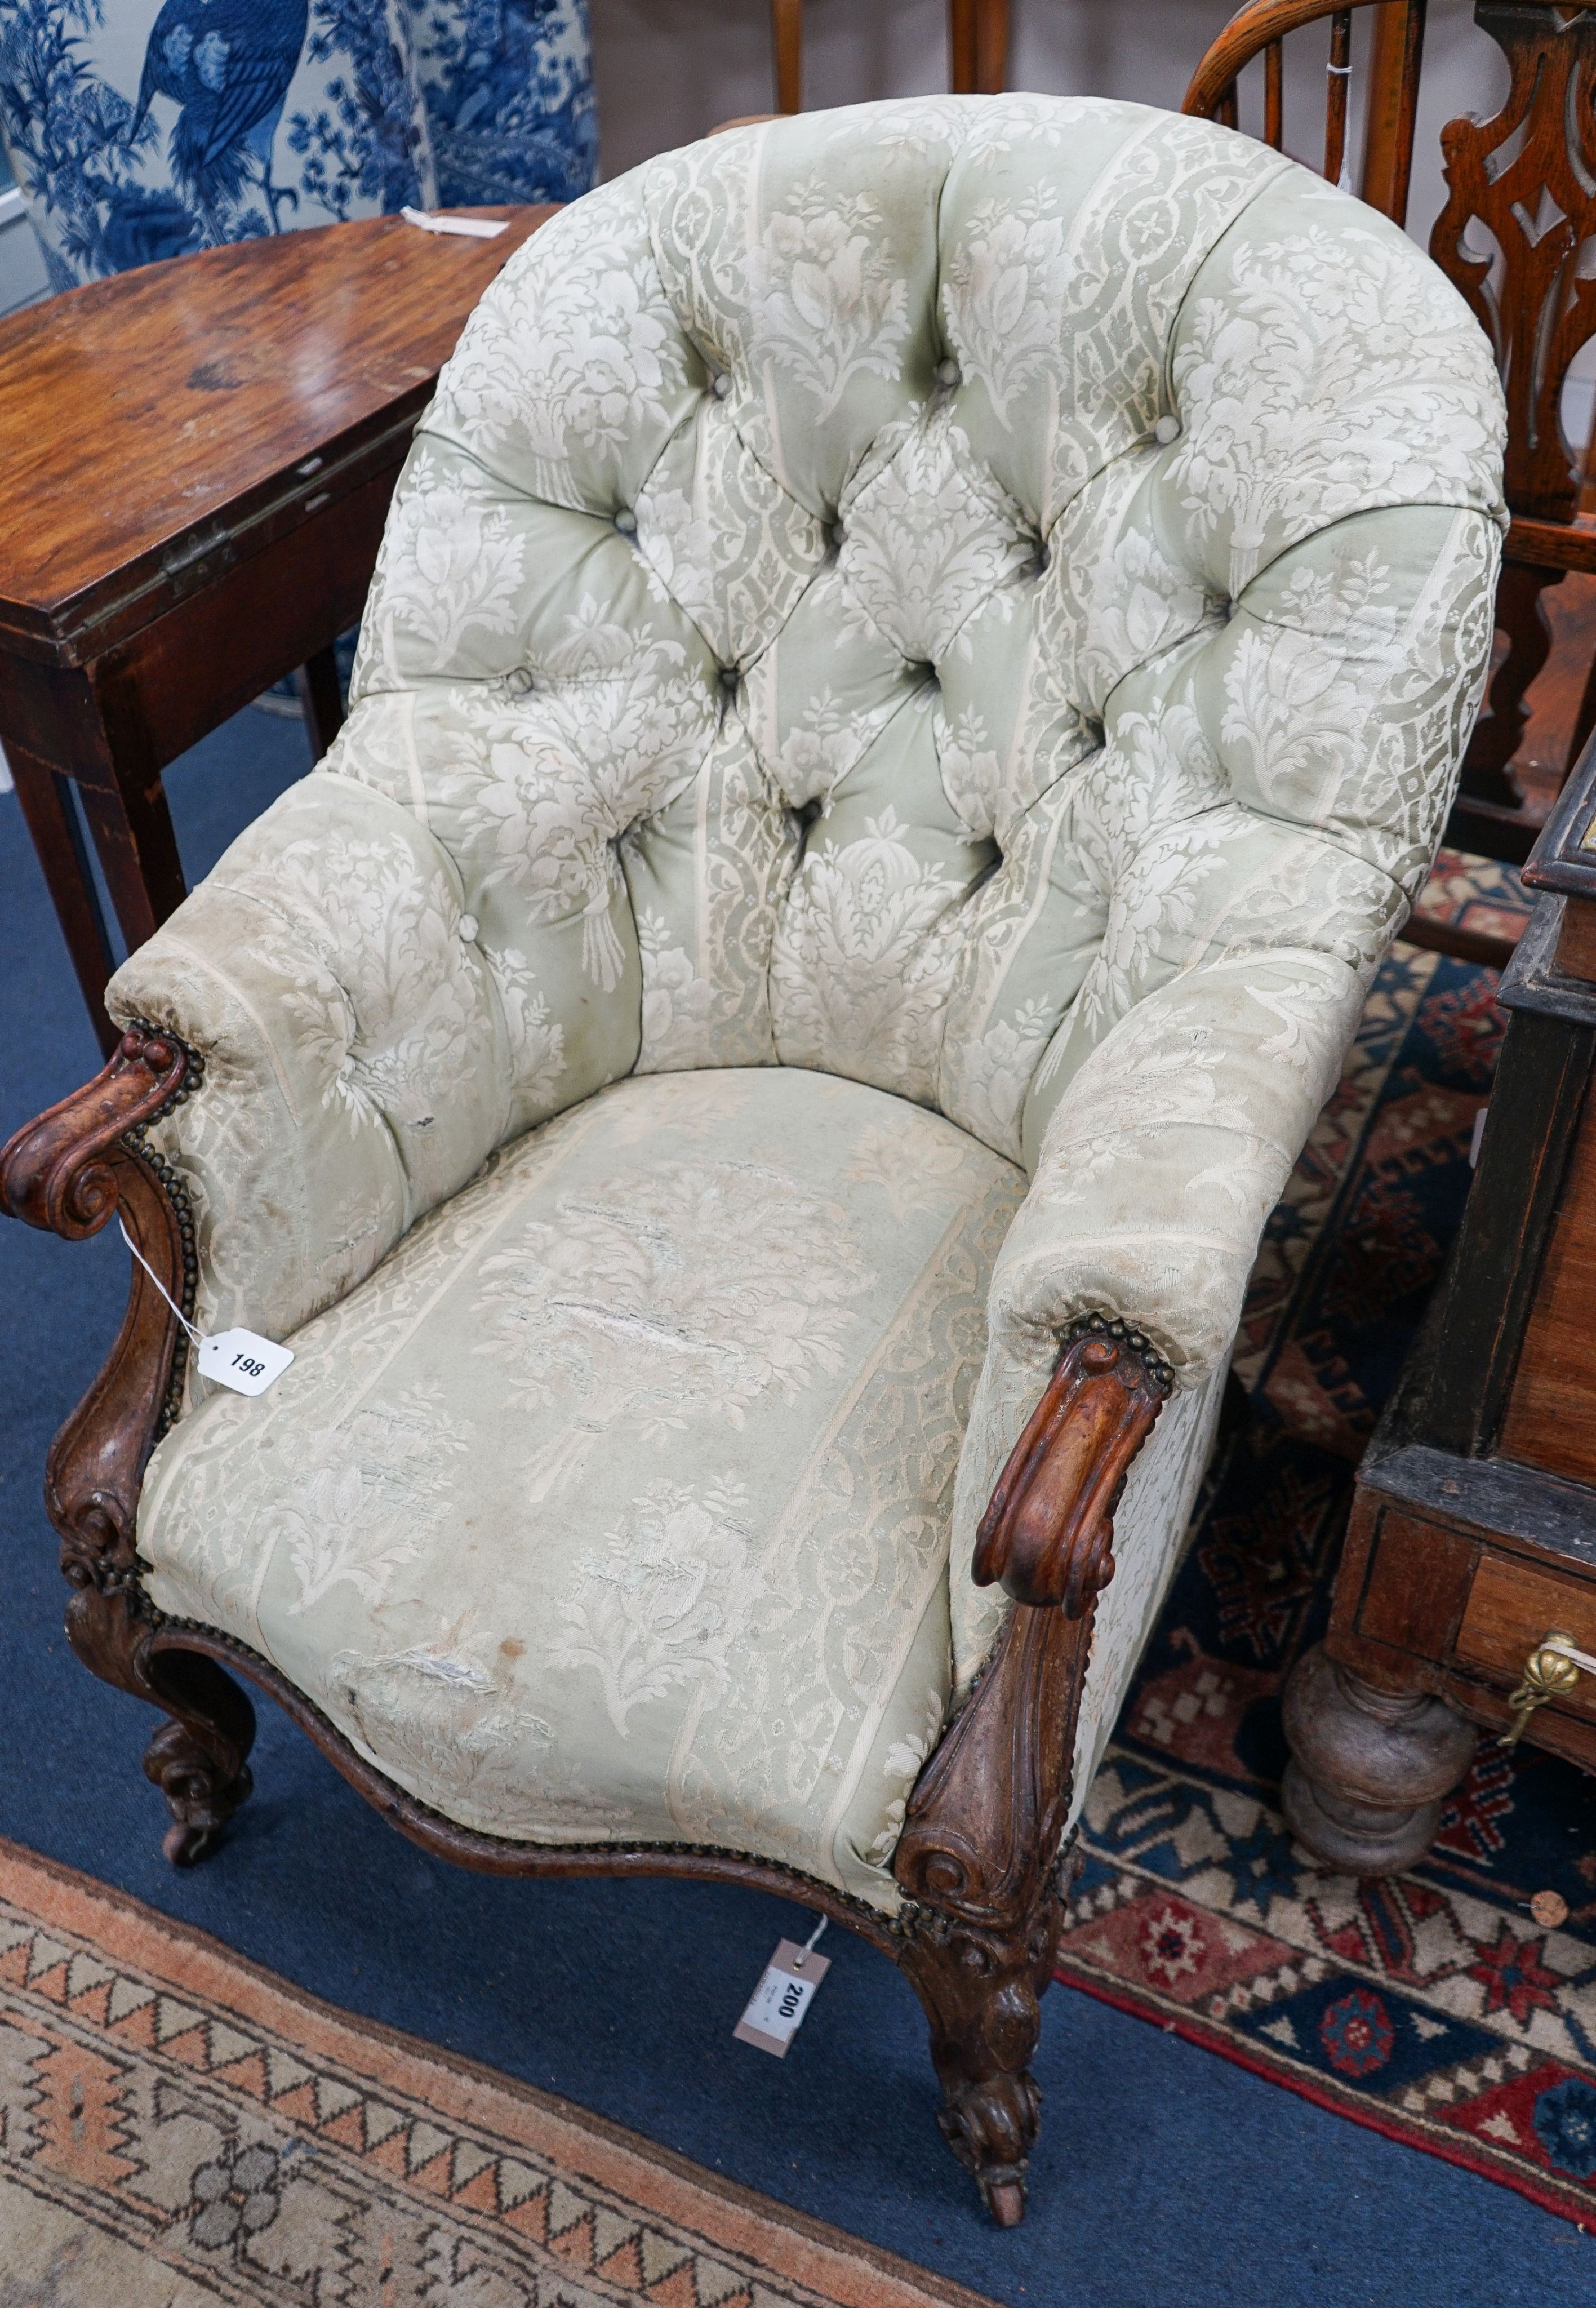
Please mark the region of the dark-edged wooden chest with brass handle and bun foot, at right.
[[1525, 882], [1543, 896], [1501, 979], [1453, 1260], [1285, 1694], [1287, 1821], [1356, 1874], [1423, 1858], [1476, 1726], [1596, 1770], [1596, 741]]

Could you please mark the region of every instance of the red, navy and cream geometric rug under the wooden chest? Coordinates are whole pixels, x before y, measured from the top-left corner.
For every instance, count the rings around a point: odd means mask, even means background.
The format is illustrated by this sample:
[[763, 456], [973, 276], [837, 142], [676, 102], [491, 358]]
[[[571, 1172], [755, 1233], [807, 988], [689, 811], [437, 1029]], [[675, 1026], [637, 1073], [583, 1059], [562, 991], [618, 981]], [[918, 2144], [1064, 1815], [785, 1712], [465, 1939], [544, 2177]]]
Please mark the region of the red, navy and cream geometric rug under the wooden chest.
[[[1444, 854], [1425, 912], [1501, 935], [1518, 877]], [[1409, 1876], [1326, 1874], [1278, 1809], [1280, 1687], [1469, 1184], [1492, 972], [1400, 944], [1275, 1212], [1236, 1352], [1250, 1429], [1091, 1791], [1059, 1976], [1596, 2225], [1596, 1782], [1492, 1740]], [[1552, 1890], [1566, 1923], [1534, 1923]]]

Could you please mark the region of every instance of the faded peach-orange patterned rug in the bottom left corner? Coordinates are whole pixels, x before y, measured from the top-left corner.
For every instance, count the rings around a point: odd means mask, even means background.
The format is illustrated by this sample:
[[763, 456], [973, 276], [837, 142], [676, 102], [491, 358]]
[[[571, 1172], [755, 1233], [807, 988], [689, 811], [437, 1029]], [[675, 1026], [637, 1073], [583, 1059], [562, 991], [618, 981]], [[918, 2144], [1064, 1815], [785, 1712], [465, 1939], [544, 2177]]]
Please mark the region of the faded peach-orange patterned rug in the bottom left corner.
[[5, 1842], [0, 2301], [989, 2308]]

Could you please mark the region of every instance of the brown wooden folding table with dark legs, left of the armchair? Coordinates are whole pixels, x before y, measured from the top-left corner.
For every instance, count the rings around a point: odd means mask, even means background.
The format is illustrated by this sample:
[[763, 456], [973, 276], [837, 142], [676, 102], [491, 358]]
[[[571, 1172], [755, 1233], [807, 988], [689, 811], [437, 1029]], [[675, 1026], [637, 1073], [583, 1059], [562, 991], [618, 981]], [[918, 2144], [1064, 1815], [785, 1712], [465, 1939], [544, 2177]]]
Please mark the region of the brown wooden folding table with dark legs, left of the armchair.
[[244, 240], [0, 323], [0, 745], [106, 1052], [111, 942], [185, 896], [161, 769], [360, 616], [387, 501], [496, 240], [401, 217]]

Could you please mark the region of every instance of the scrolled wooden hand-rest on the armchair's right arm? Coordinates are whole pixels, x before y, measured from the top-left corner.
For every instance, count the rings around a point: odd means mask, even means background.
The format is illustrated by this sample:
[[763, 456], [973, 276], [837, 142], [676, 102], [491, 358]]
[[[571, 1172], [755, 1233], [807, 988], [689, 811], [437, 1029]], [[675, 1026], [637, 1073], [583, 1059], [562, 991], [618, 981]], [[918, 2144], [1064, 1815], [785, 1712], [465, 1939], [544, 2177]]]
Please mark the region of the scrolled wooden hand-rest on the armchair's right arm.
[[1114, 1507], [1169, 1385], [1139, 1329], [1100, 1313], [1072, 1325], [980, 1519], [976, 1586], [1082, 1618], [1114, 1576]]

